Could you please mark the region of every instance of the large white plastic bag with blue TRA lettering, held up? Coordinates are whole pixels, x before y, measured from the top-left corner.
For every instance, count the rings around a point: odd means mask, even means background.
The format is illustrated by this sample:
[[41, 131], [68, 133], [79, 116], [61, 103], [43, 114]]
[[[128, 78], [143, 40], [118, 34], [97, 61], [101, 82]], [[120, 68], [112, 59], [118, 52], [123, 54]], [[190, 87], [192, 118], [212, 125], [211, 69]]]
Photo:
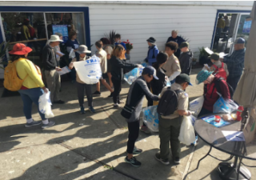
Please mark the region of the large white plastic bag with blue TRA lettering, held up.
[[96, 55], [86, 61], [74, 62], [74, 68], [80, 80], [86, 84], [96, 84], [102, 77], [100, 59]]

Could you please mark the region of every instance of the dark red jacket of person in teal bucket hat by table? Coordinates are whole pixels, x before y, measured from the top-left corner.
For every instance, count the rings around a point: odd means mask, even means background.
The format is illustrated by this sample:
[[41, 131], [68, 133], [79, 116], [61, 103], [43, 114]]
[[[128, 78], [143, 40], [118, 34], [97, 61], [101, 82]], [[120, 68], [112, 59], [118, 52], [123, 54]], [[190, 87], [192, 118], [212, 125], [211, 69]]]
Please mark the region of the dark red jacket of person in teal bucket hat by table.
[[230, 99], [230, 89], [229, 86], [226, 84], [225, 80], [220, 80], [219, 86], [221, 92], [217, 93], [217, 89], [215, 87], [215, 82], [218, 80], [218, 78], [221, 78], [218, 74], [215, 75], [214, 81], [210, 84], [205, 85], [204, 87], [204, 102], [203, 102], [203, 108], [206, 110], [213, 111], [214, 109], [214, 103], [218, 100], [219, 94], [222, 94], [222, 98], [224, 99]]

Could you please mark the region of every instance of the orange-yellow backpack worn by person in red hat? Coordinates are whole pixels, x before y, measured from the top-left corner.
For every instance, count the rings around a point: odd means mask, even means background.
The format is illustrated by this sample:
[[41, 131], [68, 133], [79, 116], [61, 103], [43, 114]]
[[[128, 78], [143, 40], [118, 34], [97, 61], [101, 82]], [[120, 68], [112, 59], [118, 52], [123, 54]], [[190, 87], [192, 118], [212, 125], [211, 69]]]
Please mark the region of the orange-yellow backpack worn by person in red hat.
[[7, 90], [11, 90], [11, 91], [20, 90], [22, 88], [22, 83], [28, 76], [28, 74], [26, 74], [26, 77], [24, 79], [21, 79], [18, 77], [17, 70], [16, 70], [16, 64], [20, 60], [22, 60], [22, 59], [16, 60], [14, 62], [9, 62], [5, 68], [3, 86]]

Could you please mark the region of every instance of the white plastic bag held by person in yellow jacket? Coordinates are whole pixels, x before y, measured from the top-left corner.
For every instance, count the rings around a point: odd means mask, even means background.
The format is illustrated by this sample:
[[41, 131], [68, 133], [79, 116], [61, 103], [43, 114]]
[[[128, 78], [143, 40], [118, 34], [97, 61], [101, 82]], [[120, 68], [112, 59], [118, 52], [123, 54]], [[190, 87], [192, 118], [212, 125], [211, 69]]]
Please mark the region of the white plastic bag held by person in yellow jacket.
[[50, 91], [47, 94], [43, 93], [39, 97], [38, 104], [40, 112], [45, 114], [46, 118], [54, 118], [54, 114], [51, 111]]

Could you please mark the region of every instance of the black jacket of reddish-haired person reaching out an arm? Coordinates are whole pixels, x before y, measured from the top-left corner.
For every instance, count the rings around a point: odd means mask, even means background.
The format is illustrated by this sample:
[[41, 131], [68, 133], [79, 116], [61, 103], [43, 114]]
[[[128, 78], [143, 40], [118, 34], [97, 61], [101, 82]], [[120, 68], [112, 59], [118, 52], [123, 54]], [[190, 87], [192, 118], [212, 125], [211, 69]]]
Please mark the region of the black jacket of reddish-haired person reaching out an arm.
[[110, 66], [111, 66], [112, 78], [114, 78], [118, 81], [122, 81], [122, 77], [123, 77], [122, 68], [127, 69], [127, 70], [132, 70], [135, 67], [138, 67], [137, 65], [124, 62], [115, 56], [110, 58]]

